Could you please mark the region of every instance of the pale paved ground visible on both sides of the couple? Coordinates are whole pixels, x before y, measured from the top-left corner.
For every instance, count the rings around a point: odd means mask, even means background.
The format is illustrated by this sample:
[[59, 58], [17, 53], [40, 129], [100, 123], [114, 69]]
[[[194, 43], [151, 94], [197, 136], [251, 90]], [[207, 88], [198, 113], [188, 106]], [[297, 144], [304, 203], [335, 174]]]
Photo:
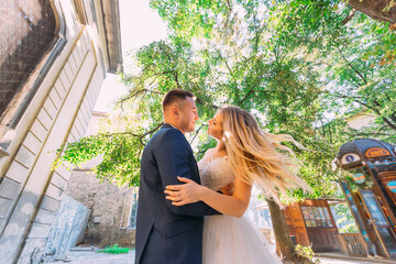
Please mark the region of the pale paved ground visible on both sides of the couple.
[[[106, 253], [96, 253], [97, 249], [90, 248], [75, 248], [72, 250], [68, 255], [68, 261], [56, 261], [50, 264], [133, 264], [134, 263], [134, 250], [130, 250], [128, 254], [106, 254]], [[316, 257], [320, 260], [321, 264], [380, 264], [380, 263], [396, 263], [396, 261], [388, 260], [377, 260], [377, 258], [366, 258], [366, 257], [355, 257], [346, 258], [342, 255], [331, 255], [324, 254], [326, 257], [320, 256]], [[246, 263], [249, 264], [249, 263]]]

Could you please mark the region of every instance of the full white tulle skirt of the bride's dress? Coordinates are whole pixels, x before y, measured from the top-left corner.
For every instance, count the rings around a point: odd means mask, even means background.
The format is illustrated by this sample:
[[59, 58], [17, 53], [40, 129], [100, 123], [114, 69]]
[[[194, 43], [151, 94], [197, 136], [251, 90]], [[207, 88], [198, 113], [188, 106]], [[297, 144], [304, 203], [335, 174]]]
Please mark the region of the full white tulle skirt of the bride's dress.
[[205, 217], [202, 264], [282, 264], [275, 249], [248, 219]]

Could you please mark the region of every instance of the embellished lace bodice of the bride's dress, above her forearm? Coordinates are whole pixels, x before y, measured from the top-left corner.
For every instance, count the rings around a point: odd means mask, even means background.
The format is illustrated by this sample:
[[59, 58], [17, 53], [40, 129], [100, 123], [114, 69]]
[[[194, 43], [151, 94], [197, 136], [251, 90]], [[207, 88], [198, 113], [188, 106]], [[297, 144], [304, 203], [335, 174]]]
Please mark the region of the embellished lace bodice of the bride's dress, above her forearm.
[[202, 158], [198, 163], [201, 185], [218, 190], [234, 182], [227, 156]]

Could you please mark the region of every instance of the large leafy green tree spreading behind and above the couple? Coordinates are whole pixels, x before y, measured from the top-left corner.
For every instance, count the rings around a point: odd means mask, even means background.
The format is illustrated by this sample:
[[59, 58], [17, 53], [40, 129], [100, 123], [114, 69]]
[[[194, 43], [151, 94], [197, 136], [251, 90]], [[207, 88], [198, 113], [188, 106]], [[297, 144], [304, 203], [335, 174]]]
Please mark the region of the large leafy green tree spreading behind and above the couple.
[[[393, 129], [396, 38], [388, 25], [331, 0], [151, 3], [170, 34], [140, 48], [139, 70], [122, 75], [130, 89], [118, 105], [122, 128], [69, 144], [63, 161], [78, 164], [101, 154], [99, 178], [138, 186], [142, 150], [161, 127], [161, 99], [173, 88], [196, 94], [201, 120], [224, 103], [237, 105], [265, 130], [301, 142], [310, 151], [295, 151], [311, 198], [336, 191], [340, 175], [331, 161], [353, 136], [342, 119], [329, 122], [329, 112], [364, 109], [377, 116], [381, 132]], [[202, 128], [188, 138], [198, 160], [215, 144]], [[283, 215], [270, 207], [277, 248], [293, 260]]]

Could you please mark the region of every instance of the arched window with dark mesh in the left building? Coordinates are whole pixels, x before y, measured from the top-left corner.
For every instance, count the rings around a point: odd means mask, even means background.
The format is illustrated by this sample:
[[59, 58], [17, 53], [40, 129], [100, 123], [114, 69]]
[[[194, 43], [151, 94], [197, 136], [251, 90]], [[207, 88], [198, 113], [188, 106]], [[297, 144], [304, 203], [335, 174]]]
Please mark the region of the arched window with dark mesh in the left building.
[[3, 1], [0, 7], [0, 113], [53, 44], [52, 1]]

